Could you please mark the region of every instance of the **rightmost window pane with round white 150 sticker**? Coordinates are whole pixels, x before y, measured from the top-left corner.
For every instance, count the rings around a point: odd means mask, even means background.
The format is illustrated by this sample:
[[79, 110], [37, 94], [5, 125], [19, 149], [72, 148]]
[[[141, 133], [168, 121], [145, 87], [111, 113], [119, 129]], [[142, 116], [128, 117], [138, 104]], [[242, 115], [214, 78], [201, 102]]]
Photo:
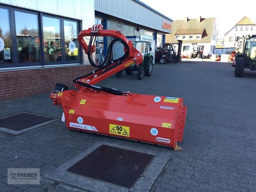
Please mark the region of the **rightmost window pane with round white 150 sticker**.
[[66, 60], [79, 60], [79, 44], [77, 40], [77, 22], [64, 20], [65, 57]]

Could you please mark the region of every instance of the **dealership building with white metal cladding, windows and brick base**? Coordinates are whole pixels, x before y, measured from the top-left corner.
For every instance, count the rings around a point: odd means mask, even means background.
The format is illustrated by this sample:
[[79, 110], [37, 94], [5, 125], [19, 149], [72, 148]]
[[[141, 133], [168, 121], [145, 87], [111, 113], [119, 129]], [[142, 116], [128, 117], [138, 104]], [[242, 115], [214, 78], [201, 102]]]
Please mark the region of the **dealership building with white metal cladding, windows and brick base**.
[[[0, 0], [0, 15], [0, 101], [50, 92], [56, 83], [73, 87], [73, 79], [93, 70], [77, 41], [93, 24], [156, 44], [172, 26], [138, 0]], [[95, 59], [110, 41], [97, 38]]]

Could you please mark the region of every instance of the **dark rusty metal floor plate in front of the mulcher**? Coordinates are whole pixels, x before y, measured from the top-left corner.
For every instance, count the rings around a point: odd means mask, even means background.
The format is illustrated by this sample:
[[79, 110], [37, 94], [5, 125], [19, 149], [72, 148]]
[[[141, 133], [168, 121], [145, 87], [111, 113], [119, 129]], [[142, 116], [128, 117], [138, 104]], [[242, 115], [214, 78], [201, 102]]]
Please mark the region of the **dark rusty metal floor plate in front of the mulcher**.
[[150, 154], [101, 145], [67, 171], [131, 188], [153, 157]]

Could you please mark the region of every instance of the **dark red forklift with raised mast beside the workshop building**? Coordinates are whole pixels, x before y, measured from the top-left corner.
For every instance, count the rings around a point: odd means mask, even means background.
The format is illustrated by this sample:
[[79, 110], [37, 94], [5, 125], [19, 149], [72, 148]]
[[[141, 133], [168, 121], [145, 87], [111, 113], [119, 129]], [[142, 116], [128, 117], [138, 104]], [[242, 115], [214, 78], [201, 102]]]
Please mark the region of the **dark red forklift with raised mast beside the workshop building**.
[[174, 44], [166, 43], [163, 48], [158, 48], [156, 51], [156, 60], [159, 61], [160, 64], [172, 62], [176, 64], [176, 62], [180, 62], [180, 51], [182, 41], [178, 40], [179, 50], [176, 52]]

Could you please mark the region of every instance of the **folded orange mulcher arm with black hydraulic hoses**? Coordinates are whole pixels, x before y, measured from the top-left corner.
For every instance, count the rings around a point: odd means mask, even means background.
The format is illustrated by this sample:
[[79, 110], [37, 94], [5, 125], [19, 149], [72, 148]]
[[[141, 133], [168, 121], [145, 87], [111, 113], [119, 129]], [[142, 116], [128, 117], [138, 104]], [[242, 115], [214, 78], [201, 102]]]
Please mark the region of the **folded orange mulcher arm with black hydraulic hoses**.
[[[89, 45], [84, 41], [85, 36], [91, 37]], [[106, 60], [100, 65], [96, 65], [92, 60], [92, 53], [95, 51], [95, 45], [92, 44], [94, 44], [97, 36], [111, 36], [114, 38], [108, 47]], [[82, 83], [84, 85], [86, 82], [87, 84], [94, 85], [134, 63], [139, 65], [143, 62], [141, 53], [133, 47], [132, 41], [129, 41], [120, 31], [102, 29], [101, 24], [81, 31], [78, 35], [78, 41], [83, 47], [85, 54], [88, 55], [91, 65], [99, 69], [88, 75], [76, 78], [73, 82], [77, 84]], [[115, 42], [120, 42], [124, 45], [124, 55], [116, 60], [111, 60], [112, 47]]]

